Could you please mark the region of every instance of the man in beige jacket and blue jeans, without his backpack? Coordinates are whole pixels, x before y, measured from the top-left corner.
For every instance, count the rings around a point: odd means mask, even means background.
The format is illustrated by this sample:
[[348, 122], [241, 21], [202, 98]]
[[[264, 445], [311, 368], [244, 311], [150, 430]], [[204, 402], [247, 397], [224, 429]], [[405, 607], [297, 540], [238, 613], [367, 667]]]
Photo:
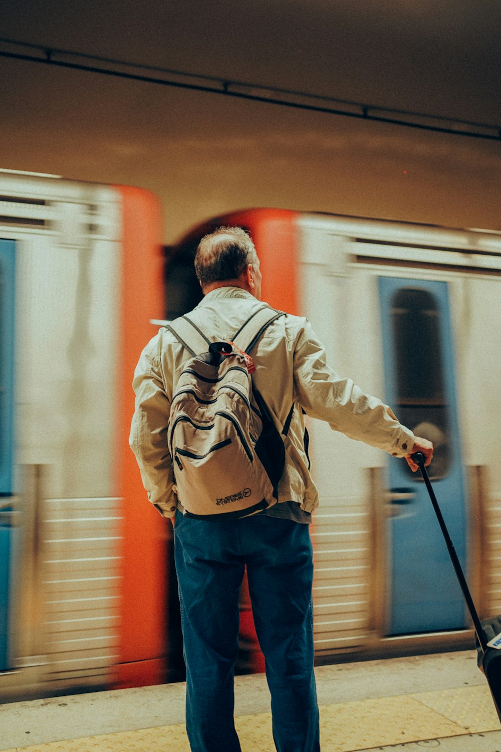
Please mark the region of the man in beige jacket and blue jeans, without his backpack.
[[[204, 299], [189, 314], [213, 341], [231, 340], [262, 307], [261, 271], [251, 238], [220, 228], [202, 239], [195, 271]], [[430, 441], [401, 426], [379, 399], [361, 393], [328, 366], [303, 317], [277, 318], [252, 350], [255, 386], [280, 431], [290, 421], [276, 505], [240, 519], [197, 520], [182, 514], [166, 441], [171, 399], [189, 353], [161, 329], [140, 356], [134, 376], [131, 447], [149, 501], [171, 520], [186, 660], [186, 729], [192, 752], [240, 752], [234, 728], [234, 664], [238, 596], [247, 568], [252, 613], [266, 661], [273, 738], [279, 752], [317, 752], [318, 705], [313, 674], [312, 545], [308, 523], [318, 505], [309, 473], [303, 411], [351, 438], [393, 456]], [[234, 468], [230, 468], [234, 472]]]

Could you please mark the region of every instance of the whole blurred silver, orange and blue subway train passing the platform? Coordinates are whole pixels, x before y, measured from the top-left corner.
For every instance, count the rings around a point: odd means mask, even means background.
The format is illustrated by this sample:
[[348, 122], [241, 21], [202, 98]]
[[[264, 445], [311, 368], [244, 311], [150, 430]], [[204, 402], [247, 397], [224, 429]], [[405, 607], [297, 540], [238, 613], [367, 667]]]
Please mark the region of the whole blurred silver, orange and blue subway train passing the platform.
[[[501, 233], [251, 209], [162, 249], [128, 186], [0, 171], [0, 697], [180, 678], [171, 524], [128, 430], [140, 350], [201, 299], [198, 241], [239, 225], [263, 299], [435, 444], [430, 466], [478, 610], [501, 611]], [[317, 663], [447, 650], [472, 630], [418, 475], [309, 421], [321, 503]], [[240, 670], [263, 669], [245, 583]]]

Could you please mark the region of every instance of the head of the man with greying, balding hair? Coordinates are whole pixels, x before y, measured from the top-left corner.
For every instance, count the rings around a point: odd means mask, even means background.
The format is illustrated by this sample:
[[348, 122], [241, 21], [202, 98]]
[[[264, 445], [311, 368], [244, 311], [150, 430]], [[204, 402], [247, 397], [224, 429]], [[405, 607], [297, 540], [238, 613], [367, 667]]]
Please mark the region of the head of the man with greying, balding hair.
[[241, 227], [219, 227], [198, 244], [195, 271], [204, 295], [216, 287], [241, 287], [261, 300], [261, 271], [254, 244]]

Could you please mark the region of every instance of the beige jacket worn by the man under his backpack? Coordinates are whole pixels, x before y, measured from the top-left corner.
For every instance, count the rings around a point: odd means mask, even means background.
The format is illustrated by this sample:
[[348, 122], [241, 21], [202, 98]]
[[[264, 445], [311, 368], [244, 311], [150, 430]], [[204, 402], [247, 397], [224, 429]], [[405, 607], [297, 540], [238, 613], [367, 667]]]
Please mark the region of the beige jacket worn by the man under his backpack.
[[[189, 317], [209, 339], [228, 340], [262, 305], [245, 290], [220, 287], [208, 293]], [[134, 373], [136, 402], [129, 442], [148, 499], [164, 517], [174, 517], [177, 508], [167, 428], [174, 387], [189, 357], [174, 335], [162, 328], [144, 348]], [[329, 368], [324, 347], [305, 318], [289, 314], [279, 317], [268, 326], [252, 357], [255, 385], [279, 431], [295, 403], [285, 437], [279, 502], [299, 502], [307, 512], [318, 506], [304, 447], [301, 408], [309, 417], [326, 420], [334, 431], [394, 456], [412, 450], [414, 435], [396, 420], [390, 408]]]

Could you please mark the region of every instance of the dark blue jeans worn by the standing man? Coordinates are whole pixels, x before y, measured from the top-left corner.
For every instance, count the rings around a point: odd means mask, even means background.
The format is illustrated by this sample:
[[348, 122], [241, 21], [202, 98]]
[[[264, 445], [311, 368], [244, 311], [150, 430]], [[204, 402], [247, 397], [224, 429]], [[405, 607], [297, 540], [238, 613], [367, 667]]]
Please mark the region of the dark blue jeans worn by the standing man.
[[307, 525], [256, 515], [174, 527], [192, 752], [241, 752], [234, 726], [238, 597], [247, 566], [278, 752], [318, 752], [312, 544]]

